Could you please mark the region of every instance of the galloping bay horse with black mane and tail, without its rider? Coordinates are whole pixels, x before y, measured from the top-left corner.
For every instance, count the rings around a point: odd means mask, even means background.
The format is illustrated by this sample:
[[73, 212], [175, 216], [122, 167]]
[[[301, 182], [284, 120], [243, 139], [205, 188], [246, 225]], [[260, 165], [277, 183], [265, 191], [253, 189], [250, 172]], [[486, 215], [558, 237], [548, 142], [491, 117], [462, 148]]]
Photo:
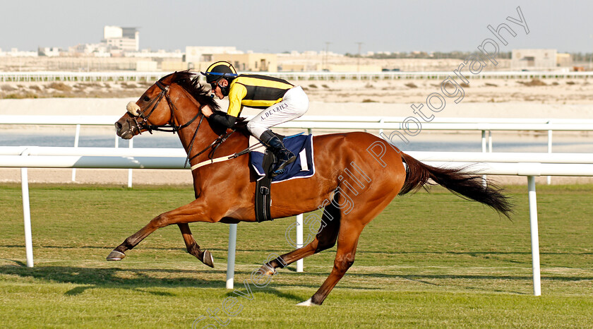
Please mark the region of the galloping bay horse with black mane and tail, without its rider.
[[[128, 112], [116, 121], [116, 133], [124, 139], [143, 131], [178, 133], [192, 166], [196, 199], [150, 220], [117, 246], [108, 260], [121, 260], [126, 251], [156, 229], [176, 224], [188, 253], [213, 267], [211, 253], [198, 246], [188, 223], [256, 222], [256, 177], [248, 155], [240, 156], [248, 148], [248, 133], [240, 128], [227, 130], [205, 119], [200, 110], [203, 105], [219, 108], [208, 92], [195, 73], [171, 73], [150, 86], [136, 103], [128, 104]], [[398, 194], [415, 191], [425, 184], [440, 184], [507, 217], [512, 212], [503, 191], [493, 184], [484, 185], [481, 176], [465, 169], [423, 164], [371, 133], [313, 136], [313, 152], [313, 177], [272, 184], [270, 213], [272, 218], [282, 218], [324, 208], [318, 221], [321, 227], [309, 244], [284, 253], [259, 270], [262, 275], [272, 275], [277, 268], [330, 249], [337, 241], [333, 270], [317, 292], [299, 305], [323, 303], [354, 263], [362, 229]], [[217, 162], [221, 157], [230, 159]]]

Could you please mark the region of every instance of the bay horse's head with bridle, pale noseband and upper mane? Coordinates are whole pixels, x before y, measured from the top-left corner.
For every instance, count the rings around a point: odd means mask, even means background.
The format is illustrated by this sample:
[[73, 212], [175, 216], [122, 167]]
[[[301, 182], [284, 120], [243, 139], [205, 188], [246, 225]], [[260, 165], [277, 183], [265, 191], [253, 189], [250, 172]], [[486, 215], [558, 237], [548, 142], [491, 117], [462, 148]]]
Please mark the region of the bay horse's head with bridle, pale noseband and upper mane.
[[[217, 109], [218, 105], [206, 95], [207, 90], [198, 83], [197, 78], [191, 79], [193, 76], [189, 71], [164, 76], [151, 85], [136, 102], [129, 102], [126, 106], [127, 113], [115, 123], [117, 136], [130, 139], [143, 131], [178, 131], [184, 128], [189, 123], [180, 125], [174, 118], [174, 110], [186, 110], [185, 107], [176, 107], [174, 104], [181, 95], [191, 95], [197, 104], [208, 104], [212, 109]], [[199, 114], [200, 112], [196, 117]], [[169, 130], [162, 129], [165, 126]]]

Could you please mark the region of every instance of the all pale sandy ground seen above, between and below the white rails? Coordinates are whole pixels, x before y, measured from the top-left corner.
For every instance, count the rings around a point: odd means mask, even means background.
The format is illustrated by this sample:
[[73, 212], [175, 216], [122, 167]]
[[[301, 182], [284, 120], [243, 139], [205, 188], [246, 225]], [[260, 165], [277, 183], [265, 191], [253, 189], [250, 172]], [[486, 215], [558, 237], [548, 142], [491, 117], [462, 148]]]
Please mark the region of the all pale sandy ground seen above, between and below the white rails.
[[[470, 80], [463, 86], [465, 95], [458, 104], [448, 99], [445, 109], [433, 113], [438, 117], [477, 118], [546, 118], [546, 119], [593, 119], [593, 84], [586, 80], [546, 79], [542, 83], [525, 80]], [[307, 115], [368, 115], [368, 116], [410, 116], [414, 115], [411, 104], [426, 102], [433, 92], [441, 92], [441, 81], [436, 80], [307, 80], [295, 81], [302, 85], [311, 100]], [[113, 115], [121, 116], [125, 104], [136, 100], [145, 90], [145, 85], [121, 86], [121, 83], [101, 83], [77, 88], [77, 83], [66, 84], [63, 91], [49, 87], [49, 83], [14, 83], [0, 86], [6, 92], [74, 93], [82, 97], [49, 97], [0, 100], [0, 115]], [[78, 83], [80, 85], [80, 83]], [[54, 85], [54, 87], [56, 87]], [[80, 87], [80, 86], [79, 86]], [[11, 90], [14, 88], [14, 90]], [[8, 91], [6, 91], [8, 90]], [[441, 92], [442, 93], [442, 92]], [[94, 94], [107, 94], [115, 98], [96, 98]], [[128, 97], [136, 95], [135, 97]], [[221, 101], [224, 108], [226, 102]], [[426, 109], [426, 107], [425, 107]], [[245, 115], [256, 114], [246, 109]], [[28, 127], [28, 131], [47, 132], [48, 128]], [[94, 129], [93, 133], [112, 134], [112, 128]], [[73, 131], [72, 127], [51, 127], [49, 131]], [[20, 132], [21, 127], [0, 125], [0, 133]], [[287, 131], [278, 131], [287, 133]], [[314, 131], [315, 134], [325, 133]], [[436, 133], [422, 131], [414, 140], [477, 140], [478, 133]], [[542, 140], [545, 133], [493, 133], [496, 141], [532, 138]], [[554, 141], [589, 141], [589, 133], [554, 133]], [[1, 141], [0, 141], [1, 145]], [[413, 150], [413, 148], [411, 148]], [[525, 150], [528, 152], [529, 150]], [[578, 149], [556, 150], [558, 152], [580, 152]], [[71, 169], [29, 169], [31, 182], [70, 183]], [[497, 177], [504, 184], [525, 184], [525, 177]], [[20, 169], [0, 169], [0, 182], [20, 181]], [[127, 184], [127, 169], [77, 169], [76, 183]], [[544, 182], [545, 177], [538, 179]], [[553, 184], [574, 181], [593, 182], [593, 178], [553, 177]], [[133, 170], [133, 184], [191, 184], [191, 174], [184, 170]]]

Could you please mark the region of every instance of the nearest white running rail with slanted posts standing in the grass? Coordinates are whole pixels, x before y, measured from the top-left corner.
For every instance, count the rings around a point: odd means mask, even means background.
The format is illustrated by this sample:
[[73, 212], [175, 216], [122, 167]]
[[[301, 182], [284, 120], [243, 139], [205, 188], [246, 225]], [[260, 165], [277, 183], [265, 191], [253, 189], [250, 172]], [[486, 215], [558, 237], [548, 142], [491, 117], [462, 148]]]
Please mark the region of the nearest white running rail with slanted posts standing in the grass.
[[[169, 149], [169, 157], [163, 150], [167, 149], [114, 149], [102, 148], [42, 148], [42, 147], [0, 147], [0, 167], [21, 167], [23, 189], [23, 214], [25, 221], [25, 249], [27, 265], [33, 266], [32, 239], [30, 232], [30, 210], [28, 199], [27, 167], [71, 167], [71, 168], [164, 168], [183, 169], [184, 157], [177, 157], [178, 149]], [[20, 153], [18, 153], [20, 151]], [[76, 155], [76, 152], [79, 152]], [[108, 152], [108, 153], [107, 153]], [[128, 153], [126, 153], [128, 152]], [[156, 156], [155, 152], [160, 155]], [[104, 154], [107, 153], [107, 154]], [[408, 152], [412, 157], [428, 164], [464, 166], [474, 162], [474, 169], [481, 174], [510, 174], [527, 176], [529, 191], [529, 222], [532, 237], [532, 264], [534, 294], [541, 294], [539, 268], [539, 237], [537, 233], [537, 197], [535, 194], [535, 176], [593, 176], [593, 157], [580, 153], [489, 153], [480, 152]], [[18, 154], [18, 155], [16, 155]], [[62, 154], [62, 155], [59, 155]], [[103, 155], [102, 155], [103, 154]], [[140, 156], [148, 155], [148, 156]], [[450, 162], [455, 161], [455, 162]], [[462, 162], [459, 162], [462, 161]], [[469, 161], [469, 162], [467, 162]], [[487, 162], [480, 162], [487, 161]], [[480, 163], [475, 163], [480, 162]], [[232, 224], [236, 225], [236, 224]], [[297, 238], [297, 241], [298, 238]], [[297, 242], [298, 243], [298, 242]], [[301, 242], [302, 243], [302, 242]], [[229, 227], [229, 266], [227, 267], [227, 287], [232, 288], [234, 280], [234, 246], [236, 245], [236, 226]], [[297, 268], [299, 265], [297, 264]]]

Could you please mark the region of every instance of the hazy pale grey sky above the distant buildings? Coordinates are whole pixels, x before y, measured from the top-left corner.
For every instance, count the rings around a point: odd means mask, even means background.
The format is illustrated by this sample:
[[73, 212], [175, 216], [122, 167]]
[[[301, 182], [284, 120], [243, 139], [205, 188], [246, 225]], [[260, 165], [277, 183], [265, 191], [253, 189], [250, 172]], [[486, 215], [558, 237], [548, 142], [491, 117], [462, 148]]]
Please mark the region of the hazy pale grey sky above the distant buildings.
[[[236, 46], [254, 52], [475, 51], [507, 23], [513, 48], [593, 52], [593, 1], [0, 0], [0, 48], [97, 43], [104, 25], [137, 27], [140, 48]], [[519, 18], [529, 35], [505, 20]]]

